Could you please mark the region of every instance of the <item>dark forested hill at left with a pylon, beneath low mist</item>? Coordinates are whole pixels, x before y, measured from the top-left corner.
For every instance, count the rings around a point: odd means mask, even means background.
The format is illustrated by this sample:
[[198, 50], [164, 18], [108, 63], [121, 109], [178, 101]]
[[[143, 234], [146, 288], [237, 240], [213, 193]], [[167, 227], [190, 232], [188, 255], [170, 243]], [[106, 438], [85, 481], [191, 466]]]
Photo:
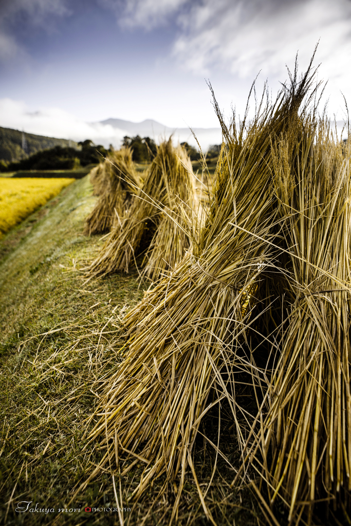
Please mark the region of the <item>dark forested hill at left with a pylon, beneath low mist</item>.
[[74, 140], [55, 139], [0, 127], [0, 160], [19, 161], [37, 151], [55, 146], [76, 148], [77, 143]]

